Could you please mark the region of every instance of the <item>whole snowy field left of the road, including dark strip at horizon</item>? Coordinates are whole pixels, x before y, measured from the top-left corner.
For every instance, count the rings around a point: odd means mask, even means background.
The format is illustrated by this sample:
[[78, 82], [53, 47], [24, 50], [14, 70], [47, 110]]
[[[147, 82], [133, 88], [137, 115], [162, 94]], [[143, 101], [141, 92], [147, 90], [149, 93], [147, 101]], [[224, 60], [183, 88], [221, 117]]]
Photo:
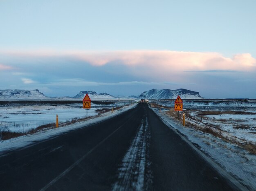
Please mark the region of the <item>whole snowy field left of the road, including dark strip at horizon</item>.
[[[72, 120], [72, 118], [85, 118], [86, 109], [83, 109], [83, 104], [36, 104], [32, 103], [15, 103], [0, 105], [0, 131], [21, 131], [24, 132], [27, 129], [36, 128], [43, 124], [55, 123], [56, 115], [58, 115], [58, 121], [66, 122]], [[58, 103], [58, 102], [57, 102]], [[98, 109], [112, 107], [120, 107], [129, 104], [129, 101], [115, 101], [104, 104], [104, 102], [92, 103], [91, 109], [88, 109], [88, 117], [97, 115]]]

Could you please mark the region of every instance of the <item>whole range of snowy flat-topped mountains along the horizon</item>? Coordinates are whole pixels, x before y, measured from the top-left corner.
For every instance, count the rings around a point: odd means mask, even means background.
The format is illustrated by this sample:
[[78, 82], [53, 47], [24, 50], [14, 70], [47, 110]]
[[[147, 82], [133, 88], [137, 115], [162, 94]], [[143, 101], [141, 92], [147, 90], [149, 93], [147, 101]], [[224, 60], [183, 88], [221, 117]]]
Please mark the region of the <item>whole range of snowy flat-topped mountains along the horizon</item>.
[[149, 91], [144, 91], [138, 96], [111, 96], [108, 93], [96, 93], [95, 91], [80, 91], [74, 97], [61, 97], [61, 98], [51, 98], [45, 96], [43, 93], [35, 90], [0, 90], [0, 100], [44, 100], [44, 99], [83, 99], [88, 93], [92, 100], [108, 100], [108, 99], [176, 99], [179, 95], [182, 99], [202, 99], [196, 91], [190, 91], [187, 89], [151, 89]]

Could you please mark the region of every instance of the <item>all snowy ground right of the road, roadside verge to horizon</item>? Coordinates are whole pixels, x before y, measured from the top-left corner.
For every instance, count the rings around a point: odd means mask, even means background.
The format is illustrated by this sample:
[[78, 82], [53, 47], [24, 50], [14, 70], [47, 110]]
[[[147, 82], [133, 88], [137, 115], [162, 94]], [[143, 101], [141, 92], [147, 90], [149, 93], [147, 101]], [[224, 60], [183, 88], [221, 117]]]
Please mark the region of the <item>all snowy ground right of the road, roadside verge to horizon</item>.
[[[184, 102], [186, 126], [173, 111], [174, 102], [156, 101], [152, 109], [198, 149], [249, 190], [256, 190], [256, 100]], [[170, 107], [170, 109], [168, 109]], [[215, 133], [207, 133], [207, 128]]]

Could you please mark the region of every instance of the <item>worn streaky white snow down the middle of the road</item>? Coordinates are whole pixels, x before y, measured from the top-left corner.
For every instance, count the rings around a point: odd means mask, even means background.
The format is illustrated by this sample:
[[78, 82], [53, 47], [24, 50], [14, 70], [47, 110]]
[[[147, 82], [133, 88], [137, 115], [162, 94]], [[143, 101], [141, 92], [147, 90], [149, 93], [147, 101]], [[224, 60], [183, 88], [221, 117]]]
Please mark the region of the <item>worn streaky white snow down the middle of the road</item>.
[[150, 165], [147, 154], [149, 138], [148, 118], [142, 119], [135, 138], [118, 169], [118, 181], [113, 184], [112, 190], [147, 190], [146, 184], [149, 181], [145, 179], [149, 179], [150, 176], [145, 177], [145, 169]]

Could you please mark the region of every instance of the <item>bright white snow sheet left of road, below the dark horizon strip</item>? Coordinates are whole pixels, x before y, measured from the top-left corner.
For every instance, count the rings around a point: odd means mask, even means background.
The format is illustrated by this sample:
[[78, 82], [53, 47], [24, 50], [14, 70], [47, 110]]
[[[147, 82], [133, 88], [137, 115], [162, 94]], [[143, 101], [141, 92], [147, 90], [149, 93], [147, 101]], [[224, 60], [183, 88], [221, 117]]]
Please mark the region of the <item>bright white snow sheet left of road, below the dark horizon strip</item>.
[[[89, 109], [88, 116], [97, 115], [95, 109], [96, 108]], [[36, 128], [42, 124], [56, 122], [56, 114], [58, 114], [58, 121], [61, 123], [66, 120], [71, 120], [72, 118], [85, 117], [86, 110], [67, 106], [54, 107], [51, 105], [8, 107], [0, 109], [0, 116], [2, 115], [2, 117], [0, 117], [0, 123], [2, 123], [2, 127], [10, 131], [26, 131], [27, 129]]]

